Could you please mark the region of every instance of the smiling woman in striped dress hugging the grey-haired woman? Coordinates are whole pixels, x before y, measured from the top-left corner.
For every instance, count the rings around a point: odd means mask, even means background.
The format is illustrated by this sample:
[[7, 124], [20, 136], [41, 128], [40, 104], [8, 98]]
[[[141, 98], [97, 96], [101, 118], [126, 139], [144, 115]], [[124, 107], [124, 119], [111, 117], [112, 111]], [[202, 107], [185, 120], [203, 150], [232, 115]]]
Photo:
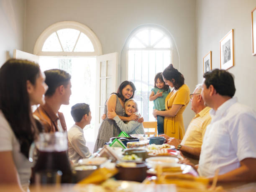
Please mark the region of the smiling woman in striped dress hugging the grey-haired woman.
[[[128, 99], [133, 98], [135, 90], [136, 88], [133, 82], [122, 82], [118, 87], [117, 93], [112, 93], [108, 97], [108, 100], [105, 102], [104, 113], [108, 114], [108, 111], [115, 111], [115, 113], [119, 116], [121, 120], [138, 120], [138, 116], [136, 114], [133, 114], [130, 117], [124, 117], [124, 102]], [[100, 125], [99, 133], [97, 136], [93, 152], [97, 152], [98, 149], [102, 148], [105, 145], [105, 143], [109, 141], [110, 138], [117, 137], [120, 133], [121, 130], [115, 123], [115, 120], [106, 117]]]

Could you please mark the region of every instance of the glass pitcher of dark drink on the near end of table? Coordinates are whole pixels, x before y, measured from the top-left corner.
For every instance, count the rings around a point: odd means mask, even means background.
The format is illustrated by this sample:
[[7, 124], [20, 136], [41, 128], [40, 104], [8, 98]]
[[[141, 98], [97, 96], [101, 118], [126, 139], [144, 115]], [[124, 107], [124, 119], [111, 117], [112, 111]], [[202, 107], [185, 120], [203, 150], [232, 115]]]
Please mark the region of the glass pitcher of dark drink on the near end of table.
[[33, 158], [37, 159], [33, 169], [35, 173], [61, 171], [61, 183], [72, 182], [72, 171], [67, 155], [67, 132], [40, 133], [33, 145], [39, 152], [38, 158], [33, 157], [33, 152], [29, 155], [30, 161], [33, 161]]

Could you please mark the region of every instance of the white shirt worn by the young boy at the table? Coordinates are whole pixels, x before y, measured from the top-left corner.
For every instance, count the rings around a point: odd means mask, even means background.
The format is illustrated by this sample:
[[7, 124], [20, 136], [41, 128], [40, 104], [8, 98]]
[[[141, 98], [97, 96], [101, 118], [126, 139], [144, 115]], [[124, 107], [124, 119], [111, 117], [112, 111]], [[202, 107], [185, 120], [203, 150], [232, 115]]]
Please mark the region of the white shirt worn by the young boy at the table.
[[77, 164], [79, 159], [91, 156], [84, 139], [84, 131], [76, 124], [74, 124], [68, 131], [68, 150], [69, 159], [74, 164]]

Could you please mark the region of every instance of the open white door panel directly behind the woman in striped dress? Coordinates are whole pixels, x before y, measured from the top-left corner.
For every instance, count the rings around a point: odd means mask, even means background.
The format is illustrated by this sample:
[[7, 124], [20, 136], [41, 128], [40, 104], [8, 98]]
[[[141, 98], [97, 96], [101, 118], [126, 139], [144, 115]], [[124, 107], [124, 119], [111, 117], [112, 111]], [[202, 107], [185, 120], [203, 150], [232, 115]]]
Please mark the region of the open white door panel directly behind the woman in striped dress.
[[96, 57], [96, 109], [95, 109], [95, 138], [100, 128], [101, 116], [104, 113], [105, 101], [108, 96], [116, 92], [118, 53], [105, 54]]

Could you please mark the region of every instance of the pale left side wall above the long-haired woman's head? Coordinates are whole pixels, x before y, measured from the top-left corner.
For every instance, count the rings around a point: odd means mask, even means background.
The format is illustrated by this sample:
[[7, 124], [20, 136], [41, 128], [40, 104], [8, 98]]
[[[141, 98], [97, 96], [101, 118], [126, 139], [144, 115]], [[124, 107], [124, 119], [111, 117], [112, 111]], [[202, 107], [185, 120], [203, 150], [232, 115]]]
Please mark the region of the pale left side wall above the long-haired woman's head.
[[0, 0], [0, 66], [23, 50], [26, 0]]

